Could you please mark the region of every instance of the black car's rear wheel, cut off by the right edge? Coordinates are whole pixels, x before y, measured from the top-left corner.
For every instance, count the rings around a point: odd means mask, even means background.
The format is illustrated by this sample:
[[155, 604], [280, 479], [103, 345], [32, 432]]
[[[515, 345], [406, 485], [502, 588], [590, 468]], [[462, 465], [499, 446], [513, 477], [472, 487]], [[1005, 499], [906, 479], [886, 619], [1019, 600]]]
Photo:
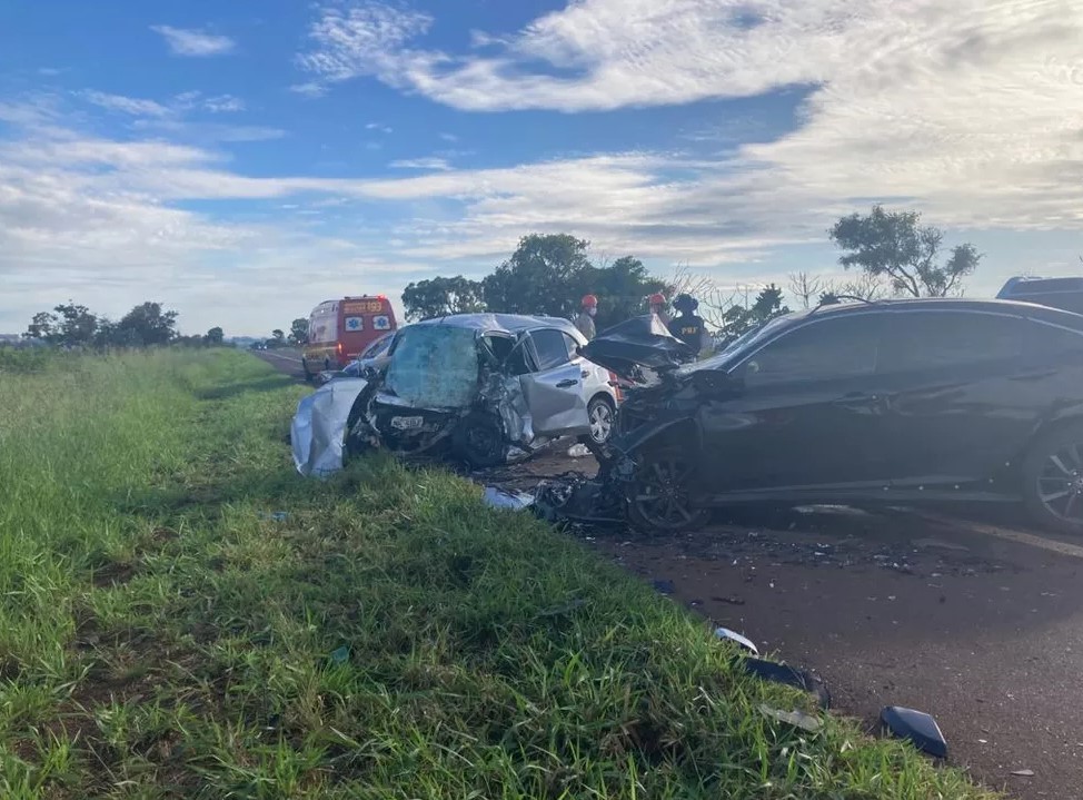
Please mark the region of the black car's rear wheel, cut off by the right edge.
[[1023, 502], [1041, 525], [1083, 534], [1083, 422], [1039, 434], [1023, 458]]

